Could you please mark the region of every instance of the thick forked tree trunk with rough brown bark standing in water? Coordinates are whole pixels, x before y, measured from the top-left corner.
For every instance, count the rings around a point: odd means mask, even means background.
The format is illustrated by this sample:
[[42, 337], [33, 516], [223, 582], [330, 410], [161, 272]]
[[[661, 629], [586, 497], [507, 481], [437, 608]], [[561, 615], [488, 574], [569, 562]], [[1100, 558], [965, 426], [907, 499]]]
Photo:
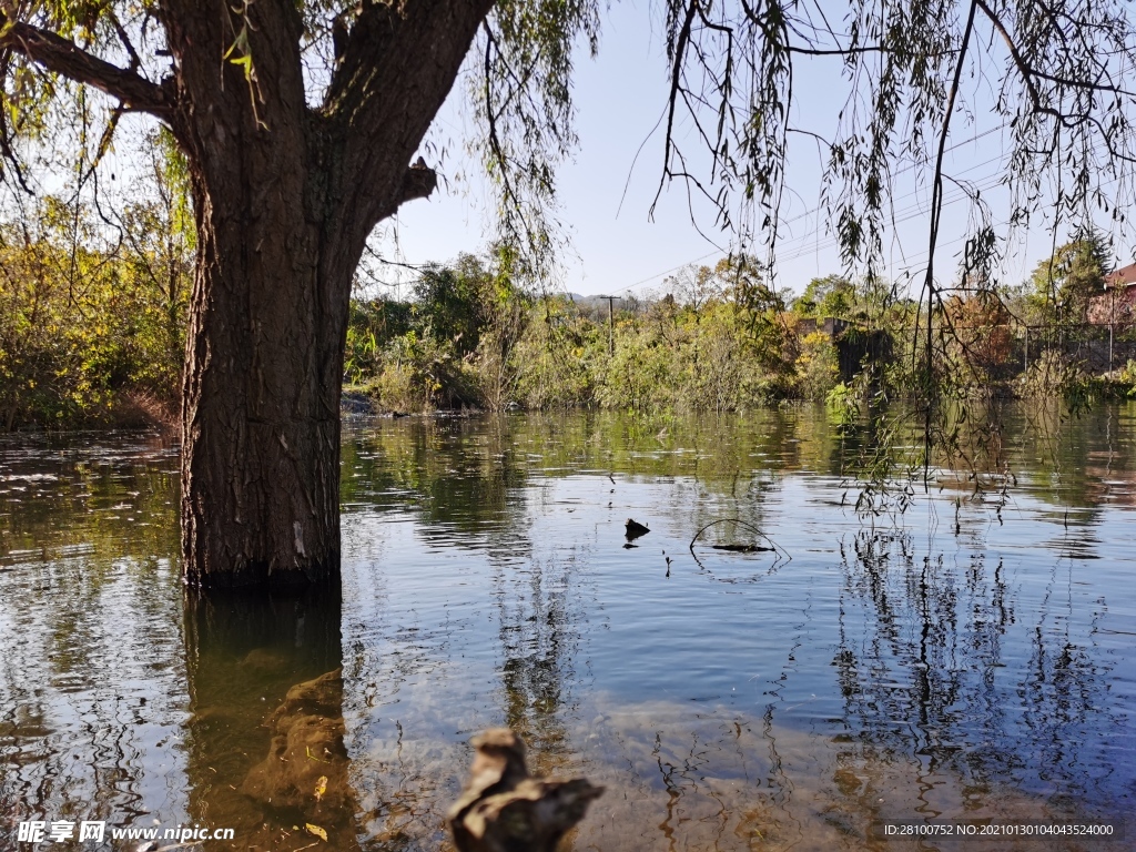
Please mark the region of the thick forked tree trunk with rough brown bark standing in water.
[[[434, 173], [408, 164], [491, 5], [360, 3], [314, 109], [291, 0], [160, 3], [176, 67], [162, 98], [198, 226], [182, 401], [190, 585], [337, 584], [352, 277], [374, 226], [433, 190]], [[237, 32], [254, 73], [219, 59]]]

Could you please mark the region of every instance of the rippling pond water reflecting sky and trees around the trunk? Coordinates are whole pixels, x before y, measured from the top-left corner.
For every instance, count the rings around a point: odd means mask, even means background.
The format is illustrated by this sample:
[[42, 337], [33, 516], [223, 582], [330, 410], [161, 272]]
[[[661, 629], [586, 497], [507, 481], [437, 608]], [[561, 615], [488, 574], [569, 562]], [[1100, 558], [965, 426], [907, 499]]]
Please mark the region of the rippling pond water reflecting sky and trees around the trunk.
[[[939, 476], [864, 518], [858, 441], [812, 408], [352, 421], [342, 600], [185, 594], [176, 445], [5, 437], [0, 849], [33, 847], [26, 820], [107, 822], [76, 849], [199, 825], [233, 829], [206, 849], [449, 849], [493, 726], [537, 772], [607, 788], [563, 849], [1120, 820], [1136, 404], [1012, 424], [1004, 494]], [[719, 519], [742, 523], [692, 551]], [[754, 528], [779, 550], [712, 546], [765, 545]]]

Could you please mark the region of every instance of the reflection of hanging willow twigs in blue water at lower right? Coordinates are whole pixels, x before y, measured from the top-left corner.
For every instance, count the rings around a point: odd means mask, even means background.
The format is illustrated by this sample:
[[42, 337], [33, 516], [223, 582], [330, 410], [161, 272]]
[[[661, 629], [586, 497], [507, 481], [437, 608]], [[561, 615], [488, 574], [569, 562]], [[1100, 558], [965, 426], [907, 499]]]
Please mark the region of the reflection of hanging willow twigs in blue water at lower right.
[[[919, 556], [911, 533], [861, 531], [842, 553], [845, 778], [907, 760], [924, 791], [916, 810], [929, 816], [1120, 812], [1114, 791], [1097, 787], [1109, 767], [1094, 741], [1122, 720], [1109, 708], [1108, 658], [1078, 645], [1100, 612], [1074, 634], [1071, 560], [1054, 560], [1041, 605], [1022, 615], [1003, 561], [980, 552]], [[1028, 651], [1004, 653], [1012, 627]]]

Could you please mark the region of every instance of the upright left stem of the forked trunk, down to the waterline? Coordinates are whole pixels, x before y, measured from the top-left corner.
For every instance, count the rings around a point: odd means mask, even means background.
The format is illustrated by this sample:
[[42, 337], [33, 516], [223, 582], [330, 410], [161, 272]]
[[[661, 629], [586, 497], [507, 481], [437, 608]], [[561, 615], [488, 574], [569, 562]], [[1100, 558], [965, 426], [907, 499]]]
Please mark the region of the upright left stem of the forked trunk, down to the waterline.
[[198, 586], [334, 580], [336, 345], [351, 270], [334, 261], [326, 199], [310, 192], [318, 140], [289, 61], [289, 22], [272, 7], [248, 22], [260, 36], [253, 84], [235, 68], [218, 72], [214, 51], [200, 49], [224, 44], [225, 15], [218, 6], [167, 20], [198, 228], [182, 387], [183, 573]]

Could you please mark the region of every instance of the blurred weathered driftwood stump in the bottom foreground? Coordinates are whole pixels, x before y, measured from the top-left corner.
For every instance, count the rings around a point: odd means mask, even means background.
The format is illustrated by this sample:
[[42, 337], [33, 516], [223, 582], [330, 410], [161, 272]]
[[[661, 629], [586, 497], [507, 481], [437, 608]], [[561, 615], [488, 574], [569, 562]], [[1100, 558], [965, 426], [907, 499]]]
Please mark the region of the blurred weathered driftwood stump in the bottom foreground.
[[525, 743], [508, 728], [486, 730], [473, 744], [469, 784], [446, 815], [459, 852], [554, 852], [603, 793], [583, 778], [533, 778]]

